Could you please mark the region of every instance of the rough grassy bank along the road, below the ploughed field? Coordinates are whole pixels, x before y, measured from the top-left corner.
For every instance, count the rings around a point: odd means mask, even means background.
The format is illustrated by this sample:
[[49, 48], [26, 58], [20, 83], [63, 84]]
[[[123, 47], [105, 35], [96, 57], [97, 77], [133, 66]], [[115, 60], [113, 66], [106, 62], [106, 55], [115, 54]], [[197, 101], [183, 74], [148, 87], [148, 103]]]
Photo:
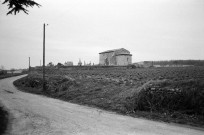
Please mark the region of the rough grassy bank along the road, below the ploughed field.
[[20, 90], [123, 115], [204, 127], [203, 80], [148, 80], [130, 85], [104, 79], [72, 79], [32, 73], [16, 80]]

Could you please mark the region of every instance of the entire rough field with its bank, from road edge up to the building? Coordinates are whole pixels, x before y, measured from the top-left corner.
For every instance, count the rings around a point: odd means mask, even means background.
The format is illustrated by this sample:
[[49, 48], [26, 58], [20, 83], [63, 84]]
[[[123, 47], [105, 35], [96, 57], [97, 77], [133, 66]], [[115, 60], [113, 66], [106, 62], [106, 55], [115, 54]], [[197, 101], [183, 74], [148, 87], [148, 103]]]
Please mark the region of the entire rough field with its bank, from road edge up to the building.
[[14, 84], [35, 94], [134, 117], [204, 127], [204, 67], [47, 69]]

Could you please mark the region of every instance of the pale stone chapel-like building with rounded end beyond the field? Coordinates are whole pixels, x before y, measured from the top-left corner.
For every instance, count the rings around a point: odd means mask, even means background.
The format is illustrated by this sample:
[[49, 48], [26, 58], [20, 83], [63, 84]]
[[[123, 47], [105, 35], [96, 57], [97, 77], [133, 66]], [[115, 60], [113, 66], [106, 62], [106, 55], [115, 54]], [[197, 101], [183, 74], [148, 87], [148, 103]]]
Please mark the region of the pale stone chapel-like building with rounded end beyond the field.
[[99, 65], [125, 66], [132, 64], [132, 54], [124, 48], [99, 53]]

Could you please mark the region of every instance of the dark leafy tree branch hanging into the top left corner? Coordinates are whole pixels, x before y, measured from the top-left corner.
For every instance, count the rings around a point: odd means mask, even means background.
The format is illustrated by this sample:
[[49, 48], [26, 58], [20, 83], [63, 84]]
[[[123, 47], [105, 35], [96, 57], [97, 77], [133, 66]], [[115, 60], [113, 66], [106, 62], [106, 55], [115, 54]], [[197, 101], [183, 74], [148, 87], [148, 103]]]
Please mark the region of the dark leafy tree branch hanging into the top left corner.
[[8, 3], [8, 9], [10, 10], [7, 13], [7, 15], [12, 13], [16, 15], [16, 13], [19, 13], [20, 11], [23, 11], [24, 13], [28, 14], [28, 10], [26, 8], [41, 6], [40, 4], [36, 3], [33, 0], [4, 0], [2, 4], [7, 4], [7, 3]]

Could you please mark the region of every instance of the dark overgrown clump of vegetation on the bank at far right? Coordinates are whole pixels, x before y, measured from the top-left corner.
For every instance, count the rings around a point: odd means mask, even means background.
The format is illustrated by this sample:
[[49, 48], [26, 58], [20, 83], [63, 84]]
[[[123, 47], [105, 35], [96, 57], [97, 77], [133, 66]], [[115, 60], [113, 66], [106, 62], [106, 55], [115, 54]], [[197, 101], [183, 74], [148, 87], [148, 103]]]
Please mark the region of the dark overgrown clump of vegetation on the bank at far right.
[[[164, 83], [161, 85], [168, 84]], [[196, 80], [171, 82], [164, 88], [149, 87], [136, 95], [135, 110], [204, 115], [203, 88], [203, 82]]]

